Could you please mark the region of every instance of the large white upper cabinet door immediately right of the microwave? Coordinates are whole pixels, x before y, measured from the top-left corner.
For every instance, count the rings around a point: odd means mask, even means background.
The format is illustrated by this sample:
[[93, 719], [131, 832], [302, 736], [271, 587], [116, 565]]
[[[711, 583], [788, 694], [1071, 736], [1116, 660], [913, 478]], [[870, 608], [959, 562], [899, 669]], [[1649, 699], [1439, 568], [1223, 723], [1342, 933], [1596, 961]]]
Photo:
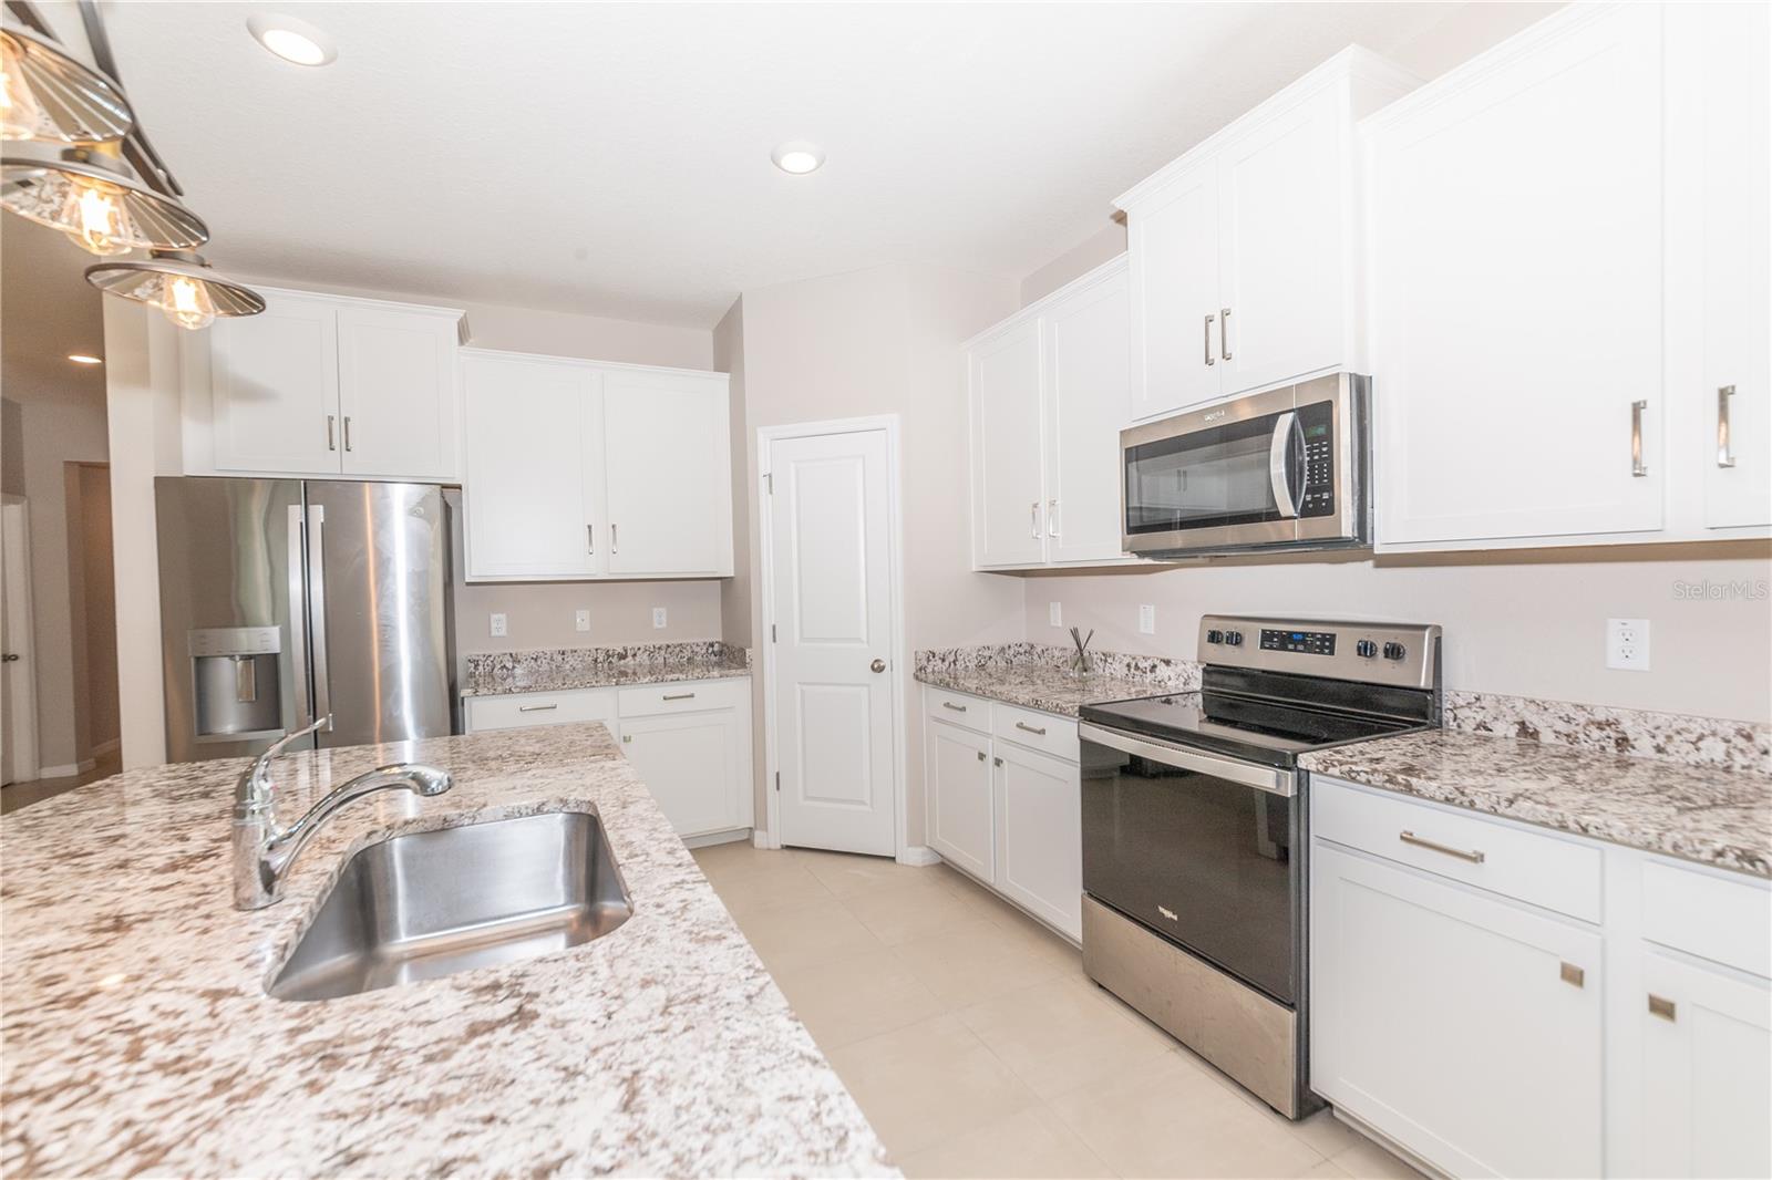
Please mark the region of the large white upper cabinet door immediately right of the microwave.
[[1572, 9], [1364, 124], [1380, 546], [1662, 528], [1660, 19]]

